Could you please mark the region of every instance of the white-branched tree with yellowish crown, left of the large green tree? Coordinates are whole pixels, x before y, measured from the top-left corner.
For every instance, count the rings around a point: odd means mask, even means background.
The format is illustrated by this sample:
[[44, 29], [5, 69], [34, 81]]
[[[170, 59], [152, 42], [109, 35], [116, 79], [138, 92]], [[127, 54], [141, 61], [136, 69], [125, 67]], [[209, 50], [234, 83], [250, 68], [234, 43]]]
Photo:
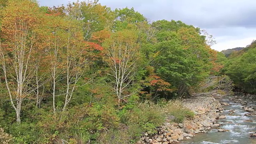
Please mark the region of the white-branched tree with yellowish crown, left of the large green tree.
[[111, 87], [118, 98], [118, 104], [138, 92], [129, 91], [134, 85], [140, 47], [136, 43], [137, 35], [132, 30], [118, 31], [104, 42], [105, 60], [112, 76]]

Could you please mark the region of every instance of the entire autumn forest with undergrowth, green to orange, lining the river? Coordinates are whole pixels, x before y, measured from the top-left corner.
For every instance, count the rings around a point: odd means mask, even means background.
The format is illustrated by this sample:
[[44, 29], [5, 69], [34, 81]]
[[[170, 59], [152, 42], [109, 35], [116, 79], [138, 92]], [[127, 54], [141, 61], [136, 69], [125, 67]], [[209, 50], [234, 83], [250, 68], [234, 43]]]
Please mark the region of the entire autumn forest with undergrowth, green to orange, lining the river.
[[132, 144], [167, 114], [192, 118], [182, 98], [233, 85], [256, 93], [256, 41], [228, 57], [215, 43], [98, 0], [0, 0], [0, 142]]

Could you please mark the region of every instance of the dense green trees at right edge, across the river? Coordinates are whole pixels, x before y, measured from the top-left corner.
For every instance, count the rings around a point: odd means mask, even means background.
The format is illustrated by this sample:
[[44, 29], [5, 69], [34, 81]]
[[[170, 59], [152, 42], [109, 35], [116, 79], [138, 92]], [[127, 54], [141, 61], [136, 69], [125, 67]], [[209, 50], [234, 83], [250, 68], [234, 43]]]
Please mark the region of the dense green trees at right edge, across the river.
[[228, 58], [223, 58], [222, 73], [227, 74], [240, 89], [256, 94], [256, 41], [246, 48], [232, 52]]

